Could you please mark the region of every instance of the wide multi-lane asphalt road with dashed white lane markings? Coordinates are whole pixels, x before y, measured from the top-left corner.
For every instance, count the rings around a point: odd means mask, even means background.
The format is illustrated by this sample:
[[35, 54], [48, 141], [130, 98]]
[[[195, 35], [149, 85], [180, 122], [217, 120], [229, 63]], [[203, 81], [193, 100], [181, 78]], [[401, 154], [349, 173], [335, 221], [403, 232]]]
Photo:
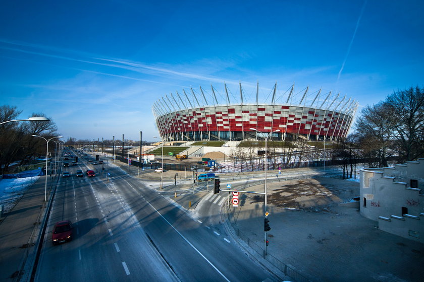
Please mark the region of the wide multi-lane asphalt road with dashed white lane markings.
[[[80, 162], [85, 171], [101, 165]], [[35, 281], [273, 281], [219, 229], [215, 212], [197, 218], [120, 168], [110, 181], [61, 178], [50, 213]], [[67, 168], [68, 169], [68, 168]], [[74, 239], [51, 244], [53, 225], [74, 223]]]

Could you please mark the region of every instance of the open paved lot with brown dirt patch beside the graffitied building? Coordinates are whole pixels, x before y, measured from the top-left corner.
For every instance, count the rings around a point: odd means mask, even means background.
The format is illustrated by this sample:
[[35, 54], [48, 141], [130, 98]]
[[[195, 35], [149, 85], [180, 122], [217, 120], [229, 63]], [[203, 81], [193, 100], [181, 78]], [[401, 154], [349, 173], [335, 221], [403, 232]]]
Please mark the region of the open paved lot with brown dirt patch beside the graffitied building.
[[[424, 245], [339, 204], [358, 193], [358, 182], [334, 178], [269, 183], [269, 253], [312, 281], [422, 281]], [[241, 203], [237, 226], [262, 246], [263, 196], [245, 194]]]

